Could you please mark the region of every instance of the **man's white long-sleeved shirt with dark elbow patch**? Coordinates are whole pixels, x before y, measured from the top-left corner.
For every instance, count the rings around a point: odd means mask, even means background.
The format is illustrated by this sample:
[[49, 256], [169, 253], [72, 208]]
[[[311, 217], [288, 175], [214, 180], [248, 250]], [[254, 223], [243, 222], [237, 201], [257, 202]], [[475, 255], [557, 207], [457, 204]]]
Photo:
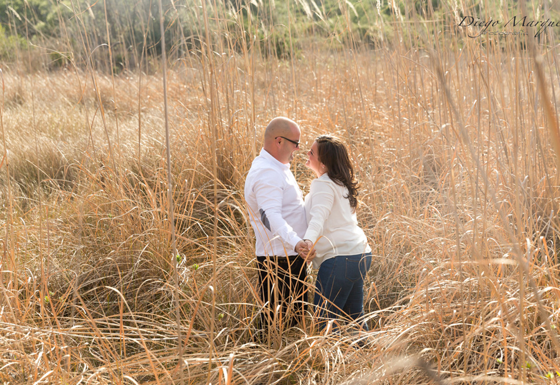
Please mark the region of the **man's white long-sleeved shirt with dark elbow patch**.
[[245, 180], [256, 255], [292, 256], [307, 227], [303, 194], [290, 170], [264, 148]]

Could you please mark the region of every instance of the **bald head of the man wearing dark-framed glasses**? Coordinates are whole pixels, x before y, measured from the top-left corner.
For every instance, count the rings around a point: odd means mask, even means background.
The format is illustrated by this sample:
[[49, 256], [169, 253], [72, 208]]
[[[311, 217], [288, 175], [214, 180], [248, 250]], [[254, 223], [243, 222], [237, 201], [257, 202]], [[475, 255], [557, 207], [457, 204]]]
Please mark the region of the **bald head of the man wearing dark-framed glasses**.
[[299, 147], [300, 126], [291, 119], [278, 116], [270, 120], [264, 132], [264, 149], [282, 163], [290, 163]]

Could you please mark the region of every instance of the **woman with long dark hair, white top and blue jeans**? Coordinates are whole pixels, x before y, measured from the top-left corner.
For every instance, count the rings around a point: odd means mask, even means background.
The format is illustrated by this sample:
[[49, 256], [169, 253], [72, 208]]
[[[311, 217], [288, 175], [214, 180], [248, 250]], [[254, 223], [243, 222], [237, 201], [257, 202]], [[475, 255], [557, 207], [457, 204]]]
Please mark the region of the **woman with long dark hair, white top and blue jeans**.
[[[311, 145], [305, 165], [315, 171], [305, 197], [307, 231], [315, 245], [313, 266], [319, 268], [314, 303], [321, 327], [341, 314], [363, 321], [363, 279], [371, 265], [371, 247], [358, 227], [358, 182], [348, 151], [340, 139], [321, 135]], [[310, 260], [310, 259], [307, 259]]]

